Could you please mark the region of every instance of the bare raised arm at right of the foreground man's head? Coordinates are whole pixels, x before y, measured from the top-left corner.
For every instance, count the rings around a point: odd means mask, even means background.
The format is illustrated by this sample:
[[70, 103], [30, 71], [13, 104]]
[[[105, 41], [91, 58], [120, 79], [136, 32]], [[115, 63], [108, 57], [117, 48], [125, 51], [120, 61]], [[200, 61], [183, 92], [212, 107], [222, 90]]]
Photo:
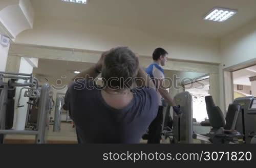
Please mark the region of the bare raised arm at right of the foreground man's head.
[[137, 86], [145, 86], [150, 88], [156, 88], [154, 82], [151, 80], [151, 78], [147, 75], [147, 73], [143, 70], [143, 68], [140, 66], [139, 72], [137, 75], [138, 79], [141, 78], [142, 80], [136, 80]]

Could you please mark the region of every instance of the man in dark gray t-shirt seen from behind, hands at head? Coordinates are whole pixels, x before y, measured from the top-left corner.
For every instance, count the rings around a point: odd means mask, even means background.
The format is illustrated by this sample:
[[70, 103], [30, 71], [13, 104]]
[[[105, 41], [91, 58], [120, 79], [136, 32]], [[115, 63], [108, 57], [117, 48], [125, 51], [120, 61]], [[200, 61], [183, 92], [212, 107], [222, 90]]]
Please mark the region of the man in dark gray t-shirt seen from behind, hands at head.
[[[102, 72], [103, 87], [93, 81]], [[134, 79], [141, 80], [134, 86]], [[156, 118], [154, 83], [127, 47], [104, 52], [96, 66], [80, 73], [69, 86], [65, 104], [81, 143], [140, 143]]]

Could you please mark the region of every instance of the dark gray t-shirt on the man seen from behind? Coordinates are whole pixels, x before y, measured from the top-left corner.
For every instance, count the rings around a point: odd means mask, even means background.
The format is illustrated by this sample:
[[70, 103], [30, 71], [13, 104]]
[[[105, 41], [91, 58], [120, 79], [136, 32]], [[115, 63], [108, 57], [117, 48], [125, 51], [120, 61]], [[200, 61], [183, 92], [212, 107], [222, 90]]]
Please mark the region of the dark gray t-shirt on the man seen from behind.
[[[86, 86], [86, 87], [84, 87]], [[156, 118], [158, 96], [154, 89], [137, 88], [134, 98], [123, 109], [106, 104], [101, 88], [92, 81], [73, 83], [65, 104], [82, 143], [137, 144]]]

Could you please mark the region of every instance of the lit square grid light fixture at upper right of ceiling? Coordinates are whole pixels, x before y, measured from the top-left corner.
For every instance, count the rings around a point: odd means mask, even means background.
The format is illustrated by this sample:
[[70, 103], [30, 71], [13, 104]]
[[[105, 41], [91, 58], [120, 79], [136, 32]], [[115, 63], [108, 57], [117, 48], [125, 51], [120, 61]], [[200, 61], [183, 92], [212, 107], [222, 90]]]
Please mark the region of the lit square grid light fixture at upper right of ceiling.
[[214, 8], [204, 17], [204, 20], [223, 22], [237, 14], [238, 10], [226, 8]]

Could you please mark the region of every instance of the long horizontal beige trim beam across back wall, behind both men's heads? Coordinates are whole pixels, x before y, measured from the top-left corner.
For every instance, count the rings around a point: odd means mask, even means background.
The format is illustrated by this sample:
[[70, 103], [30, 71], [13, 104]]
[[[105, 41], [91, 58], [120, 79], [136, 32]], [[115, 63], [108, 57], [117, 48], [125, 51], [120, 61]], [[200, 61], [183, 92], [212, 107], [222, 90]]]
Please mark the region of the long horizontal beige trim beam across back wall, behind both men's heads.
[[[74, 62], [97, 63], [101, 55], [100, 51], [88, 51], [78, 49], [63, 49], [57, 47], [11, 44], [9, 56], [30, 57], [39, 59], [51, 59]], [[152, 57], [142, 55], [140, 62], [143, 67], [152, 63]], [[219, 73], [219, 65], [196, 61], [169, 59], [165, 70], [187, 71], [197, 73]]]

